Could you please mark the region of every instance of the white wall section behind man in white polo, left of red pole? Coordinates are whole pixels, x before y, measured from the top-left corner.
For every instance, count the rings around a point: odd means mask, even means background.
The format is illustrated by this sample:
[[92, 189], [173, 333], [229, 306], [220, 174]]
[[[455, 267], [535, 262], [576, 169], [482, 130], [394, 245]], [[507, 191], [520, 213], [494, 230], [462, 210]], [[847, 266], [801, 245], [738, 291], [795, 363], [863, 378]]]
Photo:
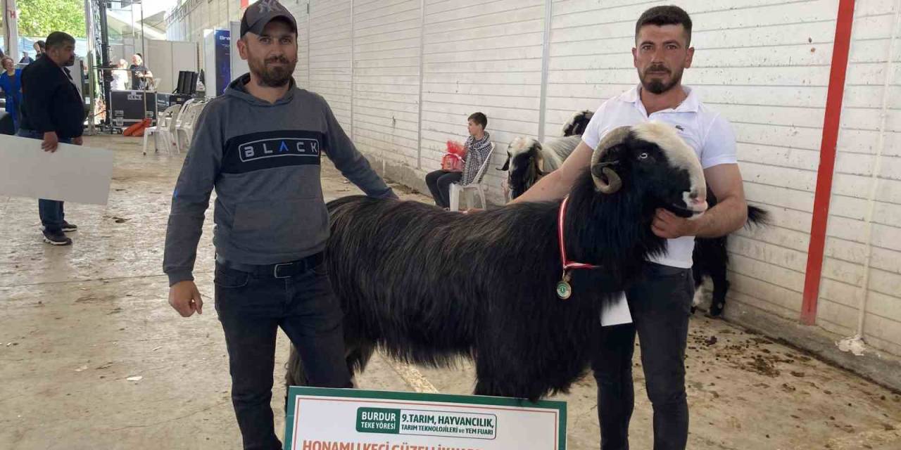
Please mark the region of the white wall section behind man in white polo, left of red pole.
[[[546, 127], [637, 84], [635, 21], [655, 4], [555, 1]], [[683, 82], [733, 123], [749, 202], [774, 225], [731, 239], [732, 299], [797, 320], [837, 1], [686, 0], [694, 65]], [[727, 308], [727, 313], [741, 308]]]

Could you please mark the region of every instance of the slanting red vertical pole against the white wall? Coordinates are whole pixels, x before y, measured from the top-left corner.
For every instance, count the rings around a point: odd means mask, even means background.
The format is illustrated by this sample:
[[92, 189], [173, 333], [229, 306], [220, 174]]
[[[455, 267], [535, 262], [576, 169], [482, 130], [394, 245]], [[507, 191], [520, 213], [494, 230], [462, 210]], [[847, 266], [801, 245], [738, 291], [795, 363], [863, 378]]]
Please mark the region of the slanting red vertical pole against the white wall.
[[851, 25], [853, 23], [854, 0], [839, 0], [838, 20], [835, 23], [833, 64], [829, 76], [829, 90], [826, 94], [823, 141], [820, 143], [820, 167], [816, 175], [814, 219], [810, 224], [810, 247], [807, 250], [804, 302], [801, 305], [801, 323], [805, 325], [816, 323], [816, 302], [820, 296], [820, 278], [823, 275], [826, 224], [829, 221], [829, 201], [833, 194], [835, 151], [842, 122], [842, 98], [845, 75], [848, 70], [848, 53], [851, 49]]

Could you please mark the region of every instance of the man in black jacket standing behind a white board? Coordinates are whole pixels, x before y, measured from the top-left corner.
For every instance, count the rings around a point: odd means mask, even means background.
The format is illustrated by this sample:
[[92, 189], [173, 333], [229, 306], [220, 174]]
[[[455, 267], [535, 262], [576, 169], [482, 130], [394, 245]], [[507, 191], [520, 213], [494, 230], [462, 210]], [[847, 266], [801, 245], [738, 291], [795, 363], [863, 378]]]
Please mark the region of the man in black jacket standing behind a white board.
[[[59, 142], [81, 145], [85, 110], [66, 67], [75, 63], [75, 38], [62, 31], [47, 37], [47, 52], [22, 71], [22, 127], [18, 135], [41, 139], [44, 151], [54, 152]], [[62, 202], [38, 201], [44, 241], [55, 246], [72, 243], [64, 232], [77, 227], [68, 223]]]

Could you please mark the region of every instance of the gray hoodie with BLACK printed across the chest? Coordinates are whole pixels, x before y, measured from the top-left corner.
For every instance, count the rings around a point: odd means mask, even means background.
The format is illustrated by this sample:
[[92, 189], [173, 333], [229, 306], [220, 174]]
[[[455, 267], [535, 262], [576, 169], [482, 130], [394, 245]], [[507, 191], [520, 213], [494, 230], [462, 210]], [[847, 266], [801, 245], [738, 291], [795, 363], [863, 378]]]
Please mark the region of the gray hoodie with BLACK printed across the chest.
[[250, 95], [241, 76], [197, 121], [166, 229], [169, 285], [192, 271], [216, 190], [213, 243], [230, 261], [268, 265], [318, 253], [329, 237], [321, 152], [369, 196], [395, 197], [341, 130], [322, 96], [297, 88], [276, 103]]

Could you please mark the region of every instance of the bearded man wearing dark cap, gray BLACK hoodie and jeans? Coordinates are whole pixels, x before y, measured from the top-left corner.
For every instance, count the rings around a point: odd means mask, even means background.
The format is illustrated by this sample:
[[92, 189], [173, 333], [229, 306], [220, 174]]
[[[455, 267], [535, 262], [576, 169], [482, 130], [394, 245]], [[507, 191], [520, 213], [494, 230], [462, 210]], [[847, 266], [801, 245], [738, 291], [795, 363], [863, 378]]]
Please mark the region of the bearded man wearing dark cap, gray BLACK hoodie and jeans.
[[276, 0], [248, 7], [232, 82], [198, 119], [172, 196], [163, 270], [169, 304], [202, 313], [192, 270], [210, 192], [216, 190], [215, 309], [225, 333], [232, 405], [244, 448], [278, 449], [272, 409], [276, 334], [297, 347], [309, 383], [350, 387], [341, 305], [323, 249], [329, 218], [320, 158], [373, 197], [396, 195], [348, 139], [323, 97], [296, 87], [294, 17]]

